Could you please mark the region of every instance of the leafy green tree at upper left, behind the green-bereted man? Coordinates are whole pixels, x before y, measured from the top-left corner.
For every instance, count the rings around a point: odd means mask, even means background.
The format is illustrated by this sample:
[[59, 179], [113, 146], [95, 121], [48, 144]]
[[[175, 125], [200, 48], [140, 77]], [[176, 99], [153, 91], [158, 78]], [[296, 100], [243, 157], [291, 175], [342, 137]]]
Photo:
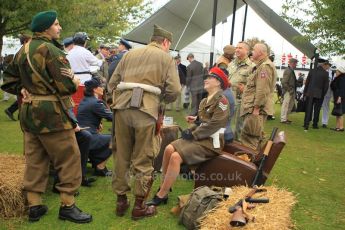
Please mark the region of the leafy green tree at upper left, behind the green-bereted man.
[[87, 32], [94, 41], [112, 42], [150, 11], [144, 0], [1, 0], [0, 53], [4, 36], [28, 32], [32, 16], [54, 9], [62, 25], [62, 37]]

